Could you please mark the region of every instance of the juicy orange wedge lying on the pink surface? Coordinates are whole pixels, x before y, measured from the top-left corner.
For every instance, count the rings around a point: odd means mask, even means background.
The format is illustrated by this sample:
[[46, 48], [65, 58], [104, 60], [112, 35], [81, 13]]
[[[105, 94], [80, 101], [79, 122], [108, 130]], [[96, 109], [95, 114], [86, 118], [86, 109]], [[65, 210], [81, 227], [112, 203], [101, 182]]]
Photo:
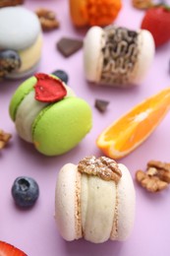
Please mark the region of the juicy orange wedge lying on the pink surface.
[[135, 106], [97, 138], [98, 148], [111, 159], [120, 159], [134, 151], [153, 132], [170, 109], [170, 88]]

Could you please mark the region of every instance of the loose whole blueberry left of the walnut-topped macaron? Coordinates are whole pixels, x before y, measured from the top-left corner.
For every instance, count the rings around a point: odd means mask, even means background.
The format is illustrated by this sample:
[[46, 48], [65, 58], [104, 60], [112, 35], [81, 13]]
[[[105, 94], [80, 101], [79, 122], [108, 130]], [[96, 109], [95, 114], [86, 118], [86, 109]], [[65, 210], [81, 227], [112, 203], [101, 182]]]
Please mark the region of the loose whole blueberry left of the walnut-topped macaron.
[[15, 179], [11, 192], [17, 206], [28, 208], [36, 202], [39, 196], [39, 187], [34, 179], [20, 176]]

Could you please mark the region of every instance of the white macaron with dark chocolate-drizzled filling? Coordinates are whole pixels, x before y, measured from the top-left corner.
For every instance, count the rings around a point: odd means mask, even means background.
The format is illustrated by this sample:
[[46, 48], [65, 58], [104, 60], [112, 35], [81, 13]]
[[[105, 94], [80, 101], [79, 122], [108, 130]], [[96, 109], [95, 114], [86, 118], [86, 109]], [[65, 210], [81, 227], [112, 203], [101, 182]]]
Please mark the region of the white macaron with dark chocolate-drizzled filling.
[[154, 40], [148, 31], [92, 27], [85, 34], [85, 78], [96, 85], [140, 85], [154, 52]]

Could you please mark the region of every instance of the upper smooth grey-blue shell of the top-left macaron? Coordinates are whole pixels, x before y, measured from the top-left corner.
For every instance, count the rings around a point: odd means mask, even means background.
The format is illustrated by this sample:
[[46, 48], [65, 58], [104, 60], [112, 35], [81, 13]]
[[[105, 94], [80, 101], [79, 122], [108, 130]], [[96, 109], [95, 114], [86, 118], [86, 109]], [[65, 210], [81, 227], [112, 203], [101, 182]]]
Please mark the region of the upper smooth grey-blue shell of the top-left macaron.
[[34, 43], [40, 23], [37, 16], [24, 7], [0, 9], [0, 48], [22, 50]]

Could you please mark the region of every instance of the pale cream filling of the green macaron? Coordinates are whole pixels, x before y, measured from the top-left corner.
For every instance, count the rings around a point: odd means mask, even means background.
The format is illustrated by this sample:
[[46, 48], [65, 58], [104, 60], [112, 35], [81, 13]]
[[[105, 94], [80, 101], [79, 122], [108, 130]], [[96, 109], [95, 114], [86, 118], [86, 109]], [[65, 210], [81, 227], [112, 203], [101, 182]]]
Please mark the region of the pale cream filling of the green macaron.
[[[67, 96], [75, 96], [72, 89], [66, 86]], [[16, 114], [16, 129], [25, 141], [32, 143], [31, 126], [38, 113], [49, 103], [38, 101], [34, 98], [34, 90], [31, 91], [18, 107]]]

